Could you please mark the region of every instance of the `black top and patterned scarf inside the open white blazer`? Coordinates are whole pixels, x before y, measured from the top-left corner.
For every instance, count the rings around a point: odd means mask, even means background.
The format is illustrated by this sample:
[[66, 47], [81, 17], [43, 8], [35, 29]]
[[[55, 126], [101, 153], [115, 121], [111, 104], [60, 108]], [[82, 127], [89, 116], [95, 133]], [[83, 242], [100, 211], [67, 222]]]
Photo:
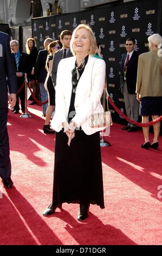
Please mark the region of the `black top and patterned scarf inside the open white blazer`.
[[85, 70], [85, 66], [86, 66], [87, 62], [88, 62], [88, 55], [83, 60], [82, 64], [79, 66], [79, 68], [77, 68], [77, 63], [75, 62], [75, 68], [72, 70], [73, 89], [72, 89], [72, 96], [71, 96], [69, 113], [68, 113], [68, 123], [70, 123], [70, 121], [74, 118], [74, 116], [76, 114], [75, 107], [74, 107], [76, 87], [80, 80], [81, 75], [83, 74], [83, 71]]

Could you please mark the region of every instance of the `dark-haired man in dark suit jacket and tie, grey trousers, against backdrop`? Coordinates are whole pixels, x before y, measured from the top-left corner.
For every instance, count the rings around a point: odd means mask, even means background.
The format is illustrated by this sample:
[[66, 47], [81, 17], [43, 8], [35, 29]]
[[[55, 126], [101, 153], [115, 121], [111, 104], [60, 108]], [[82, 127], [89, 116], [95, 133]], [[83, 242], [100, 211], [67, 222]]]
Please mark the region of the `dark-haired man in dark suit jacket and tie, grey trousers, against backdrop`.
[[[138, 121], [139, 118], [139, 102], [137, 101], [135, 88], [137, 81], [137, 68], [139, 53], [134, 50], [135, 40], [129, 38], [126, 40], [127, 53], [122, 54], [121, 57], [121, 77], [120, 90], [124, 94], [125, 108], [128, 118]], [[122, 130], [128, 132], [137, 131], [137, 126], [128, 123]]]

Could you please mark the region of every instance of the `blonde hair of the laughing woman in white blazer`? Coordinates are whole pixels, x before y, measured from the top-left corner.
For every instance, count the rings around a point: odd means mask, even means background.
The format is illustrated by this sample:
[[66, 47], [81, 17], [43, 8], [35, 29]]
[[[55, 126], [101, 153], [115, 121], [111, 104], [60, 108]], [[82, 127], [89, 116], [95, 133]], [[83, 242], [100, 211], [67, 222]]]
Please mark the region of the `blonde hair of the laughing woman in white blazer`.
[[86, 25], [86, 24], [80, 24], [79, 26], [77, 26], [74, 31], [73, 31], [73, 34], [72, 34], [72, 39], [70, 41], [70, 50], [71, 52], [73, 53], [73, 55], [75, 56], [76, 55], [76, 52], [74, 51], [74, 47], [73, 47], [73, 44], [74, 44], [74, 38], [75, 38], [75, 34], [76, 32], [81, 29], [81, 28], [86, 28], [88, 33], [89, 33], [89, 39], [90, 39], [90, 48], [89, 48], [89, 52], [88, 54], [89, 55], [94, 55], [95, 52], [96, 52], [96, 38], [95, 38], [95, 35], [92, 31], [92, 29], [90, 28], [89, 25]]

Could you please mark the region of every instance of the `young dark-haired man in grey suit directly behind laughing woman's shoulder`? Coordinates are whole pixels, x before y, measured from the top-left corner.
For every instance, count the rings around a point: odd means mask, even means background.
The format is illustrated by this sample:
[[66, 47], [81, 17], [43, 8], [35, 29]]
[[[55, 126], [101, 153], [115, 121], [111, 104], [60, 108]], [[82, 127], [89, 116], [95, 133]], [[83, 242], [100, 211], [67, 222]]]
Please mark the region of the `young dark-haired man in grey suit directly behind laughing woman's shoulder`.
[[51, 71], [54, 86], [56, 86], [57, 68], [58, 68], [60, 60], [63, 58], [69, 58], [69, 57], [73, 56], [72, 52], [70, 51], [70, 40], [71, 39], [72, 39], [71, 31], [65, 30], [65, 31], [61, 32], [60, 41], [62, 44], [62, 48], [61, 48], [61, 50], [55, 52], [55, 54], [54, 54], [52, 71]]

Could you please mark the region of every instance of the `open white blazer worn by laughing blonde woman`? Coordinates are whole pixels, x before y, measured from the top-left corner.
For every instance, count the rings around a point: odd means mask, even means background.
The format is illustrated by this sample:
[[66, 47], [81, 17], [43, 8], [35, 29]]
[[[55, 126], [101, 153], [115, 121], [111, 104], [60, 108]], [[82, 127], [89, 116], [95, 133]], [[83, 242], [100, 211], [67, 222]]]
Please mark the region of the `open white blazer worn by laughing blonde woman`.
[[[57, 69], [55, 114], [51, 121], [51, 127], [59, 132], [67, 121], [70, 100], [72, 96], [72, 70], [75, 68], [76, 57], [62, 59]], [[106, 64], [102, 59], [89, 56], [82, 76], [77, 84], [75, 95], [76, 115], [72, 119], [77, 127], [91, 135], [102, 128], [89, 127], [89, 117], [92, 113], [103, 112], [100, 99], [105, 84]]]

